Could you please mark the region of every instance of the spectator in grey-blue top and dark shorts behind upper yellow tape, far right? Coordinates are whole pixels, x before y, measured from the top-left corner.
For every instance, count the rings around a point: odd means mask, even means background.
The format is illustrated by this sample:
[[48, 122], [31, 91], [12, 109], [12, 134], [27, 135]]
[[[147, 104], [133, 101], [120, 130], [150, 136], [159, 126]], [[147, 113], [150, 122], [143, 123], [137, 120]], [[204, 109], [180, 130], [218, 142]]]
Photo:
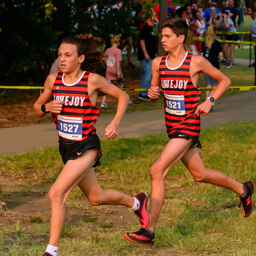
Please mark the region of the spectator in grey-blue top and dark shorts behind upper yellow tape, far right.
[[[231, 0], [232, 1], [232, 0]], [[229, 10], [222, 10], [222, 16], [220, 16], [220, 27], [223, 31], [236, 32], [233, 20], [228, 16]], [[238, 34], [229, 34], [226, 36], [226, 40], [237, 41], [239, 39]], [[235, 58], [235, 46], [236, 43], [223, 43], [223, 54], [226, 58], [226, 68], [233, 67], [233, 62]], [[230, 60], [228, 49], [230, 51]]]

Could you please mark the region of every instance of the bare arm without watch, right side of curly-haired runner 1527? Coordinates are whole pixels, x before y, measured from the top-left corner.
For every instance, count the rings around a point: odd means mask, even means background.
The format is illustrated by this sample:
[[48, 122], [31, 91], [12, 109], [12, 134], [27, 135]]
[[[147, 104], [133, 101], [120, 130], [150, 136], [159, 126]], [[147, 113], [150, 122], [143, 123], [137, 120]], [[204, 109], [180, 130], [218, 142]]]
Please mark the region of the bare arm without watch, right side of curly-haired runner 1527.
[[101, 75], [96, 73], [90, 73], [88, 80], [88, 88], [91, 90], [89, 95], [94, 90], [101, 90], [101, 92], [107, 93], [117, 99], [117, 111], [116, 116], [105, 129], [105, 137], [108, 139], [114, 139], [117, 136], [117, 127], [119, 126], [120, 120], [123, 117], [123, 114], [126, 111], [126, 108], [129, 103], [129, 96], [127, 93], [120, 90], [118, 87], [114, 86], [114, 84], [108, 83], [108, 81]]

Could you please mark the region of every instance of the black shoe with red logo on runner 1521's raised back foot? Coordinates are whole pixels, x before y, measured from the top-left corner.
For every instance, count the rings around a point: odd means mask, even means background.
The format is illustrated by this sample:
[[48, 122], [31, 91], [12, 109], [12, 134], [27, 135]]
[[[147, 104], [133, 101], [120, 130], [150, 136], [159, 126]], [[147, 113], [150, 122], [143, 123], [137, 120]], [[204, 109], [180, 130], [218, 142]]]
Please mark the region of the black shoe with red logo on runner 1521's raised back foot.
[[241, 204], [243, 204], [243, 217], [247, 218], [252, 214], [254, 210], [254, 203], [252, 202], [252, 193], [254, 193], [254, 183], [252, 181], [248, 181], [247, 183], [243, 183], [247, 188], [247, 193], [244, 198], [240, 198]]

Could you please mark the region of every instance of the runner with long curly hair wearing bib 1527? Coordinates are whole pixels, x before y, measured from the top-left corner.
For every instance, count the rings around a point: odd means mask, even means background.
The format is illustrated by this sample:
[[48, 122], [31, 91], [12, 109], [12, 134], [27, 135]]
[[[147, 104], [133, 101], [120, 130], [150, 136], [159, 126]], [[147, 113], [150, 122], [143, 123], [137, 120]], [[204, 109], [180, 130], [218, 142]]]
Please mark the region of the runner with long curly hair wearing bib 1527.
[[[92, 205], [125, 205], [139, 216], [142, 227], [149, 225], [146, 210], [148, 196], [140, 193], [135, 198], [117, 190], [102, 189], [94, 167], [100, 165], [101, 143], [93, 126], [99, 110], [95, 107], [98, 91], [118, 100], [117, 113], [105, 129], [105, 137], [114, 139], [117, 127], [127, 108], [129, 96], [96, 74], [104, 54], [99, 51], [92, 35], [78, 35], [63, 39], [58, 50], [61, 72], [52, 73], [45, 82], [42, 95], [34, 104], [37, 116], [51, 112], [58, 136], [59, 149], [64, 163], [55, 183], [49, 190], [51, 202], [50, 240], [43, 256], [57, 256], [58, 242], [65, 219], [65, 201], [78, 185]], [[53, 96], [53, 101], [50, 101]]]

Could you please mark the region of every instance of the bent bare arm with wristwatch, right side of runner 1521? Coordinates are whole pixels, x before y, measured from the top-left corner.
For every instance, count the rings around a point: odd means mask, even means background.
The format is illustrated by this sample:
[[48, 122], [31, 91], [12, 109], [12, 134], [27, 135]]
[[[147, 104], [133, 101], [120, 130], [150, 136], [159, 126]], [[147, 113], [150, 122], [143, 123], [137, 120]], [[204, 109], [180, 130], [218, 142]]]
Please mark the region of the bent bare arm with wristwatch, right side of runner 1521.
[[[202, 56], [193, 56], [190, 64], [190, 76], [193, 78], [193, 75], [196, 75], [198, 72], [203, 72], [219, 82], [216, 90], [214, 90], [213, 94], [211, 95], [211, 97], [213, 97], [215, 100], [219, 99], [231, 84], [229, 78], [220, 72], [219, 69], [213, 67], [213, 65], [206, 58]], [[198, 106], [195, 114], [202, 114], [205, 116], [205, 114], [207, 114], [210, 109], [211, 102], [205, 101]]]

